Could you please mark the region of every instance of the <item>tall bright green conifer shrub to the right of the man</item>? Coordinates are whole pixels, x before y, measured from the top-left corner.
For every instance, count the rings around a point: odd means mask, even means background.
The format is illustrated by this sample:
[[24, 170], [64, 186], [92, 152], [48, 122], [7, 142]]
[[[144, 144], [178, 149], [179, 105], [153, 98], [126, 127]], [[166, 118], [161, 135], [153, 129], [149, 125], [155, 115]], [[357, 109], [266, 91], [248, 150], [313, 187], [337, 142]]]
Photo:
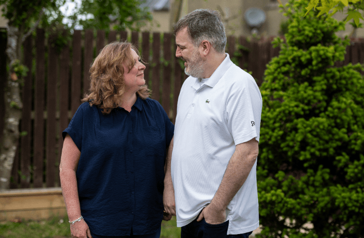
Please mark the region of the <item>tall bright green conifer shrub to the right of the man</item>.
[[262, 238], [364, 238], [364, 81], [337, 67], [344, 23], [289, 0], [265, 71], [258, 157]]

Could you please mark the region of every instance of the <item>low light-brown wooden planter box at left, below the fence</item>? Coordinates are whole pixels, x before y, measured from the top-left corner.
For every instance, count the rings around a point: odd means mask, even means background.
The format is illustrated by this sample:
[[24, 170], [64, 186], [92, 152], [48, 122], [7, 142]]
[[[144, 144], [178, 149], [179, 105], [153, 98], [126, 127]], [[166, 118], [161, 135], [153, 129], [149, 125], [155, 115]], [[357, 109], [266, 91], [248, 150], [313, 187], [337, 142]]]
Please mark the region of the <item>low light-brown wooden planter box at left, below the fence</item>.
[[0, 191], [0, 221], [41, 220], [66, 215], [60, 187]]

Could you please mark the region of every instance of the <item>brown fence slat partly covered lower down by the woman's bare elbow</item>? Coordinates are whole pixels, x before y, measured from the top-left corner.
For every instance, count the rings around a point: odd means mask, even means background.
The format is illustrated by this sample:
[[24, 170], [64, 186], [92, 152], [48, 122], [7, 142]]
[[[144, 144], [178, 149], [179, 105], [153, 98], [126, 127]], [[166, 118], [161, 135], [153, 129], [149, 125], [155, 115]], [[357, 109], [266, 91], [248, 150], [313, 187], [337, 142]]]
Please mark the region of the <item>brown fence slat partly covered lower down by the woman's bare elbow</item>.
[[[59, 91], [61, 100], [59, 101], [59, 133], [61, 135], [63, 130], [67, 128], [68, 119], [68, 88], [69, 88], [69, 61], [70, 61], [70, 48], [68, 44], [64, 46], [60, 54], [60, 68], [59, 68], [59, 80], [60, 86]], [[63, 138], [60, 137], [58, 140], [58, 163], [62, 154]], [[57, 171], [57, 178], [59, 182], [59, 170]]]

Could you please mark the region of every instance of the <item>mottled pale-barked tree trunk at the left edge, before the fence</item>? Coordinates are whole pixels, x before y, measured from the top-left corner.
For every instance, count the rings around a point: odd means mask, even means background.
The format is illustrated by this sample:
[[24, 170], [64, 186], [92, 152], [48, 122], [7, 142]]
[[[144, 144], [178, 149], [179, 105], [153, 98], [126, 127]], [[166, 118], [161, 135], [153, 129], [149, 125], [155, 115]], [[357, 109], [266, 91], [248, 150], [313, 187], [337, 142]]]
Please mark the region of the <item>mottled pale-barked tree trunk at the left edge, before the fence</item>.
[[[10, 66], [5, 85], [5, 117], [2, 143], [0, 144], [0, 190], [10, 187], [11, 170], [17, 151], [19, 140], [19, 121], [21, 118], [22, 102], [20, 98], [20, 85], [16, 77], [11, 77], [13, 63], [19, 57], [21, 46], [21, 33], [16, 27], [9, 26], [7, 29], [6, 53]], [[19, 37], [20, 36], [20, 37]]]

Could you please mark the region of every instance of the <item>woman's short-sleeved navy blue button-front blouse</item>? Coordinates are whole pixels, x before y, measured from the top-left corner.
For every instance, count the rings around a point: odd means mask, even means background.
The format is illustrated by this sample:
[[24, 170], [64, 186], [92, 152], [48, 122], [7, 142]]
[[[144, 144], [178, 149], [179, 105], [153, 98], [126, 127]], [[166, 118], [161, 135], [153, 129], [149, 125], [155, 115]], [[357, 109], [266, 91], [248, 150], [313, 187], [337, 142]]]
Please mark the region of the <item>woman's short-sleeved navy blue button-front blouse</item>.
[[77, 145], [81, 214], [100, 236], [156, 232], [163, 218], [166, 149], [174, 125], [159, 102], [137, 97], [131, 112], [82, 103], [63, 131]]

